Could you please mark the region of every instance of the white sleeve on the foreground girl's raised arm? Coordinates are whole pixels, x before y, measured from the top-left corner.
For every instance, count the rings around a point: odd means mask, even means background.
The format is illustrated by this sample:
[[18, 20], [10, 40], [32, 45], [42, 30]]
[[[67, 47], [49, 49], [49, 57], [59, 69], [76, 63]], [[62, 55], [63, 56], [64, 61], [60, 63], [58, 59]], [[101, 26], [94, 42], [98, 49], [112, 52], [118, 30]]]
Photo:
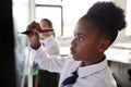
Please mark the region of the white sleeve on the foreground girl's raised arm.
[[33, 61], [38, 63], [40, 69], [61, 73], [67, 58], [62, 58], [60, 55], [49, 55], [43, 46], [40, 46], [37, 50], [31, 48], [31, 52]]

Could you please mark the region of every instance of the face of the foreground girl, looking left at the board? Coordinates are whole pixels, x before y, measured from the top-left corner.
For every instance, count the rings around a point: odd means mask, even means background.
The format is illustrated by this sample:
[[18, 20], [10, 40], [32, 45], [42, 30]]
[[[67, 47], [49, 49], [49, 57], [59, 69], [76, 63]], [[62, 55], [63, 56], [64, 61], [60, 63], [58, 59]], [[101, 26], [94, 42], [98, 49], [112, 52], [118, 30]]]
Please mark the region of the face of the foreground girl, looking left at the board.
[[80, 21], [74, 29], [74, 39], [71, 42], [71, 54], [74, 60], [93, 62], [103, 52], [99, 48], [96, 33], [87, 23]]

